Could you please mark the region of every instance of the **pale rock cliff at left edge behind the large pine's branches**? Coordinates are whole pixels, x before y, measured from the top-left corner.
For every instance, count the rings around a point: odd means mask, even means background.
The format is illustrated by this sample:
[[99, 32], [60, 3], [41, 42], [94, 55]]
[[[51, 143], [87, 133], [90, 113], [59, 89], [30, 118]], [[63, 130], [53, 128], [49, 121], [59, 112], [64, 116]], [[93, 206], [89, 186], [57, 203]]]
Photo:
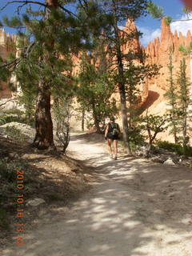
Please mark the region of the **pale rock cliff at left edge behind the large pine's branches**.
[[[16, 35], [6, 34], [4, 30], [0, 29], [0, 57], [6, 59], [9, 54], [16, 54], [14, 45], [16, 42]], [[12, 94], [5, 82], [0, 83], [2, 90], [0, 90], [1, 98], [11, 98]]]

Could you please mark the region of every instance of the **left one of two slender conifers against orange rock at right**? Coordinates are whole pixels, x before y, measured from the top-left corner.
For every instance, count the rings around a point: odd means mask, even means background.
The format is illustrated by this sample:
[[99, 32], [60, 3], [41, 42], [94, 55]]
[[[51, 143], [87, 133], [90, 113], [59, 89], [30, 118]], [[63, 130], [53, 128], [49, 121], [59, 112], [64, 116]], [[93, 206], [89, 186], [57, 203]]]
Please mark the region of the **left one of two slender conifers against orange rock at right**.
[[173, 65], [173, 48], [170, 47], [170, 63], [168, 66], [170, 77], [169, 77], [169, 90], [167, 90], [165, 96], [168, 98], [168, 106], [170, 108], [167, 112], [170, 114], [170, 134], [174, 134], [174, 142], [178, 143], [178, 94], [177, 86], [174, 82], [174, 65]]

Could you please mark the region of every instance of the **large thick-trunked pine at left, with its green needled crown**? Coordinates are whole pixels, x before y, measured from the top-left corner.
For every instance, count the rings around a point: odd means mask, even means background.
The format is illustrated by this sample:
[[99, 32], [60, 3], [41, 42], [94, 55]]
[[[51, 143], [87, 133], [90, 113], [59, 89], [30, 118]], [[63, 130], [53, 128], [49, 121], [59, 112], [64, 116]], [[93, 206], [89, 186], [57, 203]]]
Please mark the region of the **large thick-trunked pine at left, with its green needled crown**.
[[[18, 17], [4, 18], [4, 22], [6, 26], [18, 28], [18, 35], [23, 38], [23, 43], [19, 50], [20, 56], [3, 63], [1, 69], [4, 69], [4, 74], [7, 70], [17, 73], [20, 69], [20, 78], [22, 74], [22, 78], [32, 78], [37, 82], [34, 146], [47, 149], [54, 147], [50, 114], [51, 91], [55, 86], [66, 84], [65, 74], [68, 70], [65, 69], [66, 63], [63, 63], [66, 55], [72, 55], [82, 48], [90, 48], [90, 35], [97, 36], [101, 33], [106, 16], [93, 1], [35, 1], [35, 5], [41, 7], [38, 11], [30, 6], [34, 1], [14, 2], [22, 4], [18, 6]], [[71, 2], [74, 3], [74, 11], [69, 6]], [[25, 6], [26, 13], [21, 14], [20, 10]], [[65, 88], [68, 89], [67, 86]]]

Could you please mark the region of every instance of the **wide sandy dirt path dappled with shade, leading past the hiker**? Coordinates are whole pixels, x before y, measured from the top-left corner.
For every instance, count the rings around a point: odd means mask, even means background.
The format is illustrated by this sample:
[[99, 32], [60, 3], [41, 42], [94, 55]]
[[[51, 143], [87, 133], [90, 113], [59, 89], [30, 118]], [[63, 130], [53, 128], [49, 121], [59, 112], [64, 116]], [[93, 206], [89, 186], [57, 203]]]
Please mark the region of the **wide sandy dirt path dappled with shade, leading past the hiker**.
[[99, 143], [82, 136], [72, 138], [70, 151], [94, 166], [93, 189], [3, 256], [192, 255], [191, 170], [145, 159], [111, 161]]

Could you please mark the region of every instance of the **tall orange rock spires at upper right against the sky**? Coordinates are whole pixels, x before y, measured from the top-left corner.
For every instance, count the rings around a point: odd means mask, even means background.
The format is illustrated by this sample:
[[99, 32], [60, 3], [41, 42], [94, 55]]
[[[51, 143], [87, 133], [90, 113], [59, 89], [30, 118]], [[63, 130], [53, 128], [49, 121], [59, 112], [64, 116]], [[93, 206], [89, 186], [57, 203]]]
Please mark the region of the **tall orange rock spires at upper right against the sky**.
[[[162, 66], [160, 74], [148, 81], [148, 86], [156, 84], [157, 87], [161, 87], [163, 90], [169, 88], [169, 54], [170, 47], [173, 49], [173, 65], [174, 65], [174, 75], [177, 74], [180, 66], [180, 62], [183, 58], [182, 52], [178, 50], [179, 46], [189, 46], [192, 42], [192, 37], [190, 31], [188, 31], [186, 36], [182, 35], [182, 32], [175, 32], [174, 34], [170, 30], [170, 26], [166, 24], [165, 18], [162, 19], [162, 34], [161, 38], [155, 38], [154, 42], [150, 42], [146, 48], [142, 48], [149, 55], [147, 60], [150, 64], [158, 64]], [[185, 56], [186, 66], [187, 66], [187, 77], [190, 78], [190, 57]]]

